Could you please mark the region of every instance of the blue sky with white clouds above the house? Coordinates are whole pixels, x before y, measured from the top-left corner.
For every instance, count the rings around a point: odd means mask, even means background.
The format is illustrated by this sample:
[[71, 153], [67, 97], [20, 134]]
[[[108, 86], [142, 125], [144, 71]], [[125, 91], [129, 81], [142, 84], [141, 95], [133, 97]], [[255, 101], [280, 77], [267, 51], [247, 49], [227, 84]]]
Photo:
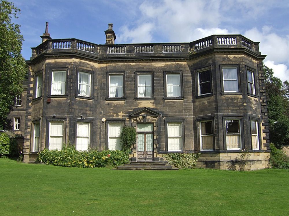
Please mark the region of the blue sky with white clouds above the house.
[[288, 0], [98, 0], [13, 1], [21, 9], [15, 23], [24, 36], [22, 54], [49, 22], [53, 39], [77, 38], [105, 43], [104, 31], [113, 23], [115, 43], [190, 42], [212, 34], [242, 34], [260, 42], [264, 64], [281, 80], [289, 79]]

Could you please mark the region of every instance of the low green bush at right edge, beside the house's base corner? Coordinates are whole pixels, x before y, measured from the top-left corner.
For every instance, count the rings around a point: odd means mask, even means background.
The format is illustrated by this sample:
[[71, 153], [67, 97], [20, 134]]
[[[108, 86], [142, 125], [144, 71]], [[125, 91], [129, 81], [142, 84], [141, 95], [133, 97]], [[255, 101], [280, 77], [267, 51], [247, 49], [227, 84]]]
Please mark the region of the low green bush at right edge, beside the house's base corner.
[[270, 143], [269, 163], [273, 168], [289, 169], [289, 157], [281, 150], [277, 149], [273, 143]]

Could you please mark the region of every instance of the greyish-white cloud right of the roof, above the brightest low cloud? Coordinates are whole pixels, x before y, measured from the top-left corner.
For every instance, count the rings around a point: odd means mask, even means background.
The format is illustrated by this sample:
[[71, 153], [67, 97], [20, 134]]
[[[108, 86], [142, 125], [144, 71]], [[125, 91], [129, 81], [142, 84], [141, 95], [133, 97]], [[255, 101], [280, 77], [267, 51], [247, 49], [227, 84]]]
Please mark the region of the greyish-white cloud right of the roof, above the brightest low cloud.
[[263, 26], [262, 31], [252, 28], [244, 36], [252, 41], [258, 41], [262, 54], [267, 55], [266, 60], [279, 63], [289, 63], [289, 37], [280, 37], [271, 32], [271, 26]]

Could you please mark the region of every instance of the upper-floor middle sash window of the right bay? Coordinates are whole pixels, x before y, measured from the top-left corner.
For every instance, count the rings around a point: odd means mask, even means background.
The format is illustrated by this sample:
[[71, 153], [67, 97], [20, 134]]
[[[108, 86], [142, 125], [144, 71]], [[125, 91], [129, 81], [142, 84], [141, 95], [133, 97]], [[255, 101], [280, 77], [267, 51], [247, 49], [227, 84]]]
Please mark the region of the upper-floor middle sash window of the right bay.
[[222, 67], [224, 92], [239, 92], [237, 67]]

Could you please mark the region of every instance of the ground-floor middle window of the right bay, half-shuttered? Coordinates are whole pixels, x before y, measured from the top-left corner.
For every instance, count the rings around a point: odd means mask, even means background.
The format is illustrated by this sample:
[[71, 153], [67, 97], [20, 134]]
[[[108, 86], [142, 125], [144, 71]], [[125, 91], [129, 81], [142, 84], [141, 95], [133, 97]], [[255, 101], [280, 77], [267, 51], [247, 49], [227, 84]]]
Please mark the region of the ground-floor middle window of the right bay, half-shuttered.
[[227, 150], [241, 149], [240, 120], [226, 120], [226, 144]]

